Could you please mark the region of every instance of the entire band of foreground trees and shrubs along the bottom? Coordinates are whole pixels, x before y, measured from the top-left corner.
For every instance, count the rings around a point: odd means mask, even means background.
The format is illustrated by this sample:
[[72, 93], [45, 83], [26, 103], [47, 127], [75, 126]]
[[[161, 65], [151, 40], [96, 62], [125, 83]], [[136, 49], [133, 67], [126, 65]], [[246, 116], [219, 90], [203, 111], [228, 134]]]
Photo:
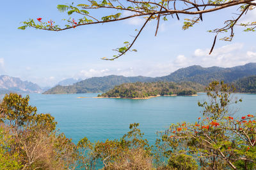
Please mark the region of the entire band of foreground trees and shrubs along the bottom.
[[29, 97], [9, 94], [0, 104], [0, 169], [255, 169], [255, 115], [232, 117], [230, 92], [222, 81], [207, 87], [209, 102], [195, 123], [160, 133], [154, 146], [131, 124], [120, 139], [77, 144], [56, 131], [49, 114], [36, 113]]

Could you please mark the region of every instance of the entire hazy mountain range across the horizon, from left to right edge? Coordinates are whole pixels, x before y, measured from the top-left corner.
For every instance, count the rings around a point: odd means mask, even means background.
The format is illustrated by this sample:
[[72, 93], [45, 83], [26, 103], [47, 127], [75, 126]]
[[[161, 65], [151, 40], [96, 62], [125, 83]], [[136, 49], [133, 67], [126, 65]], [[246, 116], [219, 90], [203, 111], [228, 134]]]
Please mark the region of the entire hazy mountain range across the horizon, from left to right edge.
[[[255, 88], [253, 84], [255, 78], [246, 78], [255, 75], [256, 63], [248, 63], [244, 66], [236, 66], [230, 68], [189, 66], [178, 69], [177, 71], [167, 76], [161, 76], [156, 78], [145, 76], [125, 77], [115, 75], [92, 77], [82, 81], [76, 80], [74, 78], [68, 78], [66, 80], [60, 81], [56, 85], [56, 87], [52, 87], [51, 89], [45, 91], [44, 94], [106, 92], [115, 87], [115, 85], [121, 85], [122, 83], [134, 83], [137, 81], [193, 81], [202, 85], [207, 85], [213, 80], [224, 80], [225, 83], [239, 83], [239, 87], [241, 86], [241, 88], [239, 89], [246, 92], [246, 88], [244, 89], [244, 87], [248, 87], [246, 86], [246, 82], [250, 83], [250, 87]], [[7, 75], [0, 76], [0, 94], [5, 94], [9, 92], [40, 93], [43, 91], [44, 90], [36, 85], [36, 83], [31, 83], [30, 81], [22, 81], [20, 80], [20, 78], [15, 78]]]

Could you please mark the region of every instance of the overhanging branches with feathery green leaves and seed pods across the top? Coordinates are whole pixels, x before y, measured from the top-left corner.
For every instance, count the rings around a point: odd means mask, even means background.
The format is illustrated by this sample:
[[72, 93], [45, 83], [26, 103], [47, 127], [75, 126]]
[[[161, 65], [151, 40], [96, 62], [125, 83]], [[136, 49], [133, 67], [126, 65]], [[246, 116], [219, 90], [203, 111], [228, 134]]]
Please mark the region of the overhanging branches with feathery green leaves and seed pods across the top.
[[[86, 1], [86, 0], [84, 0]], [[184, 25], [182, 29], [186, 30], [193, 25], [198, 24], [203, 21], [203, 15], [205, 13], [211, 13], [214, 11], [219, 11], [224, 8], [234, 6], [237, 8], [237, 15], [230, 18], [230, 20], [224, 21], [223, 27], [213, 29], [209, 32], [214, 32], [216, 34], [214, 42], [212, 43], [212, 48], [209, 53], [212, 52], [216, 38], [218, 34], [228, 32], [228, 36], [221, 38], [224, 41], [231, 41], [234, 36], [235, 25], [245, 27], [244, 31], [255, 31], [256, 22], [248, 22], [243, 24], [238, 24], [239, 19], [247, 13], [248, 10], [253, 10], [256, 3], [253, 0], [202, 0], [202, 1], [189, 1], [189, 0], [161, 0], [161, 1], [140, 1], [140, 0], [102, 0], [102, 1], [91, 1], [87, 0], [84, 4], [74, 5], [58, 5], [58, 10], [61, 12], [67, 11], [68, 15], [76, 14], [75, 18], [65, 19], [67, 22], [63, 26], [55, 24], [52, 20], [44, 20], [44, 18], [37, 18], [36, 20], [30, 19], [23, 22], [23, 26], [19, 29], [26, 29], [27, 27], [33, 27], [36, 29], [43, 29], [47, 31], [63, 31], [66, 29], [74, 29], [81, 25], [91, 25], [91, 24], [102, 24], [108, 22], [117, 22], [119, 20], [127, 20], [134, 17], [144, 17], [144, 24], [134, 36], [133, 41], [130, 43], [128, 41], [124, 42], [124, 46], [116, 48], [117, 55], [113, 55], [111, 58], [103, 57], [104, 60], [113, 60], [122, 55], [124, 55], [129, 50], [132, 50], [132, 45], [140, 36], [141, 32], [148, 24], [150, 20], [157, 20], [156, 24], [156, 34], [158, 31], [160, 20], [167, 21], [172, 18], [180, 19], [179, 15], [191, 16], [191, 18], [184, 19]], [[93, 10], [105, 10], [109, 11], [109, 15], [103, 15], [100, 18], [91, 15]], [[113, 14], [116, 11], [115, 14]], [[124, 15], [124, 11], [128, 11], [129, 15]], [[235, 13], [235, 12], [233, 12]], [[78, 15], [77, 15], [78, 14]], [[231, 15], [231, 14], [230, 14]], [[230, 16], [231, 17], [231, 16]]]

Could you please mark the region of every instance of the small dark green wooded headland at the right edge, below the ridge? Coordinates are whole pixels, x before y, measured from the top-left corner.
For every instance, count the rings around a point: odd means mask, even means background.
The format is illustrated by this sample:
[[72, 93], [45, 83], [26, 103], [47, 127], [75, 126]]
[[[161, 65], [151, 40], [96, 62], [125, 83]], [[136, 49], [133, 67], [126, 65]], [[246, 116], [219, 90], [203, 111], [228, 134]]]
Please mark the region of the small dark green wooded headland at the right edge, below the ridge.
[[234, 85], [238, 92], [256, 93], [256, 76], [241, 78]]

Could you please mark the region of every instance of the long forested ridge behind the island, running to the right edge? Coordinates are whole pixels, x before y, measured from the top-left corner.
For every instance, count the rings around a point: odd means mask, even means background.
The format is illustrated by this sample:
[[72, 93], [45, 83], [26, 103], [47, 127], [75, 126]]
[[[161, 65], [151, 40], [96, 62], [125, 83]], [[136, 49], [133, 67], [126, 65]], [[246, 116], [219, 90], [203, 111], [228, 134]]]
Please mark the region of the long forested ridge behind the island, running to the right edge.
[[208, 85], [211, 81], [224, 80], [225, 83], [236, 81], [245, 76], [256, 75], [256, 63], [245, 64], [244, 66], [236, 66], [230, 68], [223, 67], [201, 67], [189, 66], [169, 74], [157, 78], [150, 78], [144, 76], [104, 76], [93, 77], [83, 81], [79, 81], [74, 85], [69, 86], [56, 86], [47, 90], [44, 94], [67, 94], [67, 93], [86, 93], [86, 92], [106, 92], [115, 85], [122, 83], [134, 83], [137, 81], [150, 82], [150, 81], [192, 81], [202, 85]]

